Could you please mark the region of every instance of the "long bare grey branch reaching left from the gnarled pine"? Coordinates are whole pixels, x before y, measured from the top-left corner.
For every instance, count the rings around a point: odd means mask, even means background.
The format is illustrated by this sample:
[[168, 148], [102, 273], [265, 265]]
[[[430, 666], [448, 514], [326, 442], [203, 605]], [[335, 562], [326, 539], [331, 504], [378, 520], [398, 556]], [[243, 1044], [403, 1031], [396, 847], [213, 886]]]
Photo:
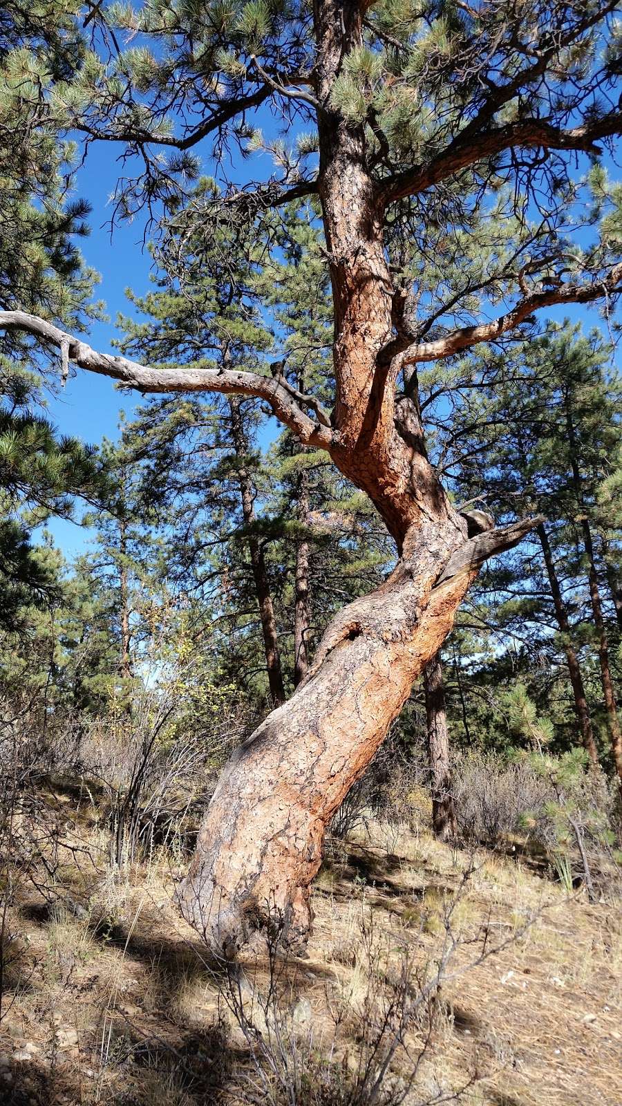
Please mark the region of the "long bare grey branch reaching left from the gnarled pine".
[[32, 334], [43, 342], [58, 346], [61, 353], [66, 349], [69, 357], [80, 368], [110, 376], [113, 380], [118, 380], [138, 392], [221, 392], [229, 395], [255, 396], [266, 400], [277, 418], [304, 445], [330, 450], [338, 444], [335, 431], [319, 426], [310, 418], [278, 379], [236, 369], [149, 368], [127, 357], [99, 353], [72, 334], [24, 311], [0, 311], [0, 327]]

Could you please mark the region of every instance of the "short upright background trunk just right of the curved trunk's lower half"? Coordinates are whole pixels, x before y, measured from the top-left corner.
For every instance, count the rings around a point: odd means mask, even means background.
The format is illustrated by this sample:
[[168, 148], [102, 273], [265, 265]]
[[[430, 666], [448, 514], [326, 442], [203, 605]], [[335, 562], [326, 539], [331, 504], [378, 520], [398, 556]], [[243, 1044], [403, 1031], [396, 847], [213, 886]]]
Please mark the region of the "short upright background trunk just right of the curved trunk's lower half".
[[427, 722], [427, 755], [432, 773], [432, 828], [439, 841], [456, 836], [449, 734], [445, 708], [443, 665], [437, 653], [423, 670], [425, 716]]

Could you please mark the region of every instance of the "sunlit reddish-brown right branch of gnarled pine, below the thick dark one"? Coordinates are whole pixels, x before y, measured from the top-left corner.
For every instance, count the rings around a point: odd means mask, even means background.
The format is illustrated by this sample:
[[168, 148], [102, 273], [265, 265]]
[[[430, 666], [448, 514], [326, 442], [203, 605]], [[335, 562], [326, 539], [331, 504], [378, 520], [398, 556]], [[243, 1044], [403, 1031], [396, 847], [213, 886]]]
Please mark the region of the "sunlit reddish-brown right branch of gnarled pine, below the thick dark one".
[[540, 307], [550, 307], [556, 303], [590, 303], [592, 300], [600, 300], [608, 292], [622, 292], [620, 281], [622, 281], [622, 262], [614, 265], [602, 280], [594, 280], [591, 284], [563, 284], [546, 292], [535, 292], [520, 300], [507, 314], [499, 315], [490, 323], [462, 326], [450, 331], [445, 337], [437, 338], [436, 342], [421, 342], [407, 351], [402, 364], [415, 365], [422, 361], [439, 361], [479, 342], [494, 342]]

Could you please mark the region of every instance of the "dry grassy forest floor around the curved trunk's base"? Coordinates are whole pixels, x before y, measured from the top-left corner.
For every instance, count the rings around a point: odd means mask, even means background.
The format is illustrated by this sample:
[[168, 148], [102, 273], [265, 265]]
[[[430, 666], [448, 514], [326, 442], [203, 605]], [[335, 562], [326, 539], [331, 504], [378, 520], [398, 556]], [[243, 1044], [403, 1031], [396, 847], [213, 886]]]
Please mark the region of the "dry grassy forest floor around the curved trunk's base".
[[308, 957], [227, 972], [175, 909], [179, 858], [115, 873], [95, 820], [52, 797], [73, 852], [52, 888], [21, 884], [9, 919], [2, 1106], [391, 1106], [460, 1088], [468, 1106], [622, 1106], [619, 888], [590, 904], [519, 851], [370, 820], [329, 845]]

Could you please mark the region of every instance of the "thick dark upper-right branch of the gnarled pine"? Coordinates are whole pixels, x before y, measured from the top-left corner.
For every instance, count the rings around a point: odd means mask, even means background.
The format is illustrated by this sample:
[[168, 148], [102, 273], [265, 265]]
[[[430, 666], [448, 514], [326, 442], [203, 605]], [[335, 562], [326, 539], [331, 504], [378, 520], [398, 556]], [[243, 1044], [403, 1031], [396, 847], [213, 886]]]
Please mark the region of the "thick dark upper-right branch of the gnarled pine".
[[621, 133], [622, 112], [611, 112], [600, 119], [568, 131], [552, 126], [547, 119], [525, 119], [509, 123], [504, 127], [488, 127], [471, 136], [466, 144], [458, 135], [428, 165], [414, 166], [381, 181], [381, 201], [386, 206], [406, 196], [415, 196], [454, 176], [460, 169], [487, 157], [494, 157], [512, 146], [541, 146], [543, 149], [582, 150], [598, 155], [602, 153], [595, 145], [598, 139]]

